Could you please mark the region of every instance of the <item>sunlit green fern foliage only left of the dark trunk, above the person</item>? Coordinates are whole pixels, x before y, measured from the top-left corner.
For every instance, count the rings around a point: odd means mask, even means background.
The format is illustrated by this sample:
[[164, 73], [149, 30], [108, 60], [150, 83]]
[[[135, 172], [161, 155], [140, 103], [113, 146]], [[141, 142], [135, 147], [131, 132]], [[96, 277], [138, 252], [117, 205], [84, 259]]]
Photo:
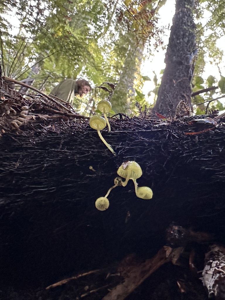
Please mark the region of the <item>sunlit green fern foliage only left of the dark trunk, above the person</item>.
[[[96, 85], [118, 82], [114, 109], [131, 113], [134, 85], [149, 80], [142, 79], [140, 64], [145, 44], [157, 35], [153, 16], [164, 3], [6, 0], [0, 8], [4, 74], [33, 78], [34, 87], [46, 92], [64, 78], [82, 77]], [[13, 13], [19, 20], [17, 29], [3, 15]], [[10, 29], [14, 30], [9, 35]], [[74, 104], [79, 107], [76, 99]]]

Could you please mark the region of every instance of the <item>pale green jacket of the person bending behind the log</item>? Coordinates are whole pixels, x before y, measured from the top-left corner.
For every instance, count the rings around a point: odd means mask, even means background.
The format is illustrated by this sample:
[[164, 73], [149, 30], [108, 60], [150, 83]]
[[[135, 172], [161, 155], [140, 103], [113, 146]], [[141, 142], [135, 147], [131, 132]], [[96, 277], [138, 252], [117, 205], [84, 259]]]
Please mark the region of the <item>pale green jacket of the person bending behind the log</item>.
[[76, 81], [73, 79], [64, 79], [53, 88], [49, 96], [52, 95], [73, 104], [75, 93], [77, 93]]

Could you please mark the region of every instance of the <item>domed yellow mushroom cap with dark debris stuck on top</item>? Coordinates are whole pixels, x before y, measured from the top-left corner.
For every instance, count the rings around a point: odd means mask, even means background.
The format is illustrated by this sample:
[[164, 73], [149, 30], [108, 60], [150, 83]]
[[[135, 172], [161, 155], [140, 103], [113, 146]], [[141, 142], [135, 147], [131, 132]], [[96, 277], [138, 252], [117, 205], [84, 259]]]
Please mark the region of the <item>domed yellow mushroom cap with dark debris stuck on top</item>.
[[142, 170], [136, 161], [126, 161], [117, 170], [117, 174], [123, 178], [137, 179], [142, 176]]

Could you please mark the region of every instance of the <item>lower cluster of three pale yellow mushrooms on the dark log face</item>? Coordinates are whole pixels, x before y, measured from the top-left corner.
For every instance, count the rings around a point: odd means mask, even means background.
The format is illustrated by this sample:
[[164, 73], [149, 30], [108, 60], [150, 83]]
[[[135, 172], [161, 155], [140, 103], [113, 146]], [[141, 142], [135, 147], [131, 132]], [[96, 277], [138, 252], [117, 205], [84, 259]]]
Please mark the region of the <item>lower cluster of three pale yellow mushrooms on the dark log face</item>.
[[106, 210], [110, 205], [110, 202], [107, 198], [110, 191], [114, 187], [117, 187], [120, 185], [125, 187], [127, 185], [129, 179], [133, 180], [133, 182], [134, 182], [135, 193], [138, 198], [152, 199], [153, 193], [152, 193], [152, 190], [150, 189], [150, 187], [138, 187], [137, 186], [136, 180], [142, 176], [142, 170], [141, 170], [141, 167], [139, 166], [139, 164], [136, 163], [136, 161], [126, 161], [126, 162], [122, 163], [122, 165], [117, 170], [117, 174], [119, 176], [121, 176], [122, 178], [125, 178], [125, 181], [122, 181], [121, 177], [116, 177], [114, 179], [115, 185], [110, 187], [110, 189], [108, 190], [107, 194], [104, 197], [100, 197], [96, 200], [95, 207], [98, 210], [101, 210], [101, 211]]

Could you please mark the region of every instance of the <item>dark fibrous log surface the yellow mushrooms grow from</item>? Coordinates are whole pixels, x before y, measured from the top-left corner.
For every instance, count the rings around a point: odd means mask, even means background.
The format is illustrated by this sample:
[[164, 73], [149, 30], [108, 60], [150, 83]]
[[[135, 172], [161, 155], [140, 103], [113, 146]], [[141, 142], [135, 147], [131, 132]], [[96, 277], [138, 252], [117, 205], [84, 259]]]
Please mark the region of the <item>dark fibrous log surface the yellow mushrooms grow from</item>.
[[[0, 299], [80, 299], [79, 285], [90, 286], [88, 277], [69, 287], [44, 287], [94, 269], [107, 275], [131, 253], [142, 260], [152, 257], [166, 244], [171, 222], [213, 234], [214, 241], [225, 244], [222, 122], [214, 130], [185, 135], [199, 128], [180, 120], [121, 115], [110, 119], [110, 133], [102, 131], [114, 156], [88, 119], [38, 95], [25, 100], [2, 82], [0, 88]], [[15, 129], [10, 122], [23, 106], [29, 107], [28, 116]], [[14, 112], [7, 114], [9, 108]], [[118, 167], [128, 160], [140, 164], [143, 176], [137, 182], [151, 187], [153, 198], [137, 198], [130, 180], [111, 191], [106, 211], [98, 211], [95, 200], [106, 195]], [[204, 247], [196, 250], [203, 259]], [[192, 283], [195, 294], [180, 292], [176, 282], [185, 272], [164, 265], [129, 299], [207, 299], [199, 279]], [[104, 286], [102, 274], [92, 280], [101, 278]], [[107, 290], [83, 298], [104, 294]]]

